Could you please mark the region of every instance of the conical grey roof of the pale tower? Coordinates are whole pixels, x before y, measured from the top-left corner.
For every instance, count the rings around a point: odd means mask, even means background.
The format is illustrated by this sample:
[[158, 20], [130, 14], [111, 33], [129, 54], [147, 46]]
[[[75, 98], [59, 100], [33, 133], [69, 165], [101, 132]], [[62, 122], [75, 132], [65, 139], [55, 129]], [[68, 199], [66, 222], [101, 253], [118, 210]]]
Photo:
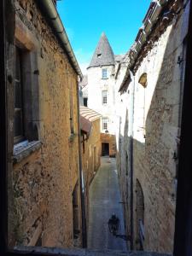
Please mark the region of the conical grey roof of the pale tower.
[[[114, 55], [111, 45], [108, 43], [108, 38], [102, 32], [99, 43], [96, 46], [95, 53], [90, 61], [89, 67], [114, 65]], [[88, 67], [88, 68], [89, 68]]]

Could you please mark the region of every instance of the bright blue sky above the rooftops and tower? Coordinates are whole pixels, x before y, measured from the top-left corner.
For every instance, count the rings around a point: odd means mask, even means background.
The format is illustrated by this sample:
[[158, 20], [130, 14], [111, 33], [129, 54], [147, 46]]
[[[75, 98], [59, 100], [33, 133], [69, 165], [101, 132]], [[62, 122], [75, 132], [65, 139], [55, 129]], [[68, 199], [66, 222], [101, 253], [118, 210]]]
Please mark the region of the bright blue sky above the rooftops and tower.
[[130, 49], [150, 0], [60, 0], [61, 20], [85, 73], [102, 32], [115, 55]]

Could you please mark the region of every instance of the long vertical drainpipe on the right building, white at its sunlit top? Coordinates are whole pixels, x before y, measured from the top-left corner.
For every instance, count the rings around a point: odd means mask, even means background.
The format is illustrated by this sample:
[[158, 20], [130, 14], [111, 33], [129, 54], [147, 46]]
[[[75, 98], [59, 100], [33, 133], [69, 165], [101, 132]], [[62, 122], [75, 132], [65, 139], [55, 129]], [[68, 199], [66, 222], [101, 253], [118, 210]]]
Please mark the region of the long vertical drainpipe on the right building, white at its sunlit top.
[[134, 124], [134, 97], [135, 97], [135, 77], [130, 70], [131, 81], [133, 83], [131, 92], [131, 143], [130, 143], [130, 161], [131, 161], [131, 250], [134, 248], [134, 209], [133, 209], [133, 124]]

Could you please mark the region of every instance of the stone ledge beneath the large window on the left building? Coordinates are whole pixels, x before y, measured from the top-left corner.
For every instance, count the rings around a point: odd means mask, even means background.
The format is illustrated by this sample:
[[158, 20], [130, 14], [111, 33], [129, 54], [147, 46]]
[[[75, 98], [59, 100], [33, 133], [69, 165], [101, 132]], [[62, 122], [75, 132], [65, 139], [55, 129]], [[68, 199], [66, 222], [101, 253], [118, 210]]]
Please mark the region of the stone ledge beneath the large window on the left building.
[[28, 155], [32, 154], [33, 152], [41, 148], [41, 146], [42, 143], [40, 141], [33, 141], [30, 143], [28, 141], [24, 141], [16, 144], [14, 146], [13, 163], [19, 163]]

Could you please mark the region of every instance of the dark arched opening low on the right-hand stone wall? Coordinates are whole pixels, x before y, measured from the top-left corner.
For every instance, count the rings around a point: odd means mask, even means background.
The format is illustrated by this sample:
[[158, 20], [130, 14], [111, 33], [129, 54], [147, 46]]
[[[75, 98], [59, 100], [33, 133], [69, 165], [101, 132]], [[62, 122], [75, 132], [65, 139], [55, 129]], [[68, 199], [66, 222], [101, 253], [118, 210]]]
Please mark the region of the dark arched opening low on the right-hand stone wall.
[[136, 181], [137, 199], [137, 249], [143, 250], [144, 244], [144, 195], [141, 183]]

